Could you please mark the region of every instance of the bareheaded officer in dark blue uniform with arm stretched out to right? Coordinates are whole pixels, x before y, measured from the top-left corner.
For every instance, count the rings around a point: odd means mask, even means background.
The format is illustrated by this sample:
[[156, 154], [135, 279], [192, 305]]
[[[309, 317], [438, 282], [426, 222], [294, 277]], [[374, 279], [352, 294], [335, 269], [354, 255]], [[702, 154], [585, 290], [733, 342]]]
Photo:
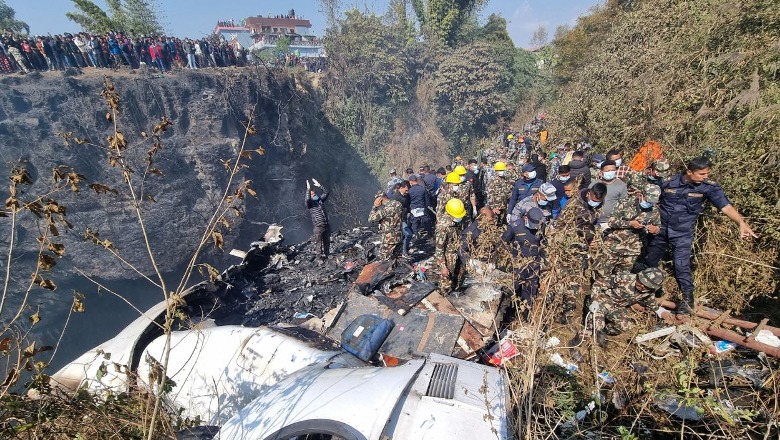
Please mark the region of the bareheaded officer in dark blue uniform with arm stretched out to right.
[[661, 183], [661, 232], [650, 242], [644, 264], [658, 267], [666, 248], [671, 244], [674, 277], [680, 286], [682, 301], [676, 313], [690, 314], [694, 307], [693, 278], [691, 276], [691, 247], [696, 220], [709, 201], [739, 225], [740, 238], [756, 237], [745, 219], [731, 205], [723, 189], [709, 180], [712, 163], [706, 157], [692, 159], [684, 174], [668, 177]]

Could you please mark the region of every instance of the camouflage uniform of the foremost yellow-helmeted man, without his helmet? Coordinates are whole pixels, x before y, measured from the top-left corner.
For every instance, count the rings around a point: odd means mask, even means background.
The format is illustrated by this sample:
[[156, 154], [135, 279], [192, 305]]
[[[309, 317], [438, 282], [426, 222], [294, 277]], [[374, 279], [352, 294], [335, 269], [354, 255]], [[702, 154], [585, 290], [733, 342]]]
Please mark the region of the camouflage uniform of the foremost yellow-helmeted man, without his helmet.
[[458, 257], [461, 245], [460, 238], [464, 227], [463, 221], [456, 222], [446, 212], [436, 222], [436, 234], [434, 235], [436, 250], [433, 253], [433, 261], [440, 266], [445, 266], [450, 272], [450, 276], [442, 276], [439, 280], [439, 289], [444, 293], [459, 288], [466, 275], [463, 263]]

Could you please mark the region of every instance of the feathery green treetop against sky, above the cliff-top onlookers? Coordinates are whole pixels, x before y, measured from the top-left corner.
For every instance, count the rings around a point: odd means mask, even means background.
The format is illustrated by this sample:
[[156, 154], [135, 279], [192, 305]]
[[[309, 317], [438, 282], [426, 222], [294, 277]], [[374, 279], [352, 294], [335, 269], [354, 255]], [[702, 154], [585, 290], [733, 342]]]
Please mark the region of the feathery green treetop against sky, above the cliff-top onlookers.
[[146, 0], [108, 0], [104, 11], [91, 0], [72, 0], [80, 12], [68, 12], [68, 19], [78, 23], [85, 31], [107, 33], [128, 32], [131, 35], [160, 34], [162, 25], [157, 18], [156, 7]]

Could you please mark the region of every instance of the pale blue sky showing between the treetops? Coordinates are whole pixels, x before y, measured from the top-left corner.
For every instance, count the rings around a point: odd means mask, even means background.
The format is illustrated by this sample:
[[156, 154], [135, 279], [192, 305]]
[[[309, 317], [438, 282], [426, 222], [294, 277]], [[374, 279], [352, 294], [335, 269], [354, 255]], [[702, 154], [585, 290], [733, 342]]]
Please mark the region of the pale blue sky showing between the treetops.
[[[102, 0], [93, 0], [101, 7]], [[80, 27], [68, 20], [65, 13], [75, 11], [70, 0], [5, 0], [16, 11], [16, 18], [30, 25], [33, 35], [78, 32]], [[342, 0], [347, 7], [383, 13], [387, 0]], [[600, 0], [488, 0], [482, 11], [482, 21], [497, 13], [506, 18], [509, 35], [518, 47], [530, 47], [531, 37], [539, 26], [545, 26], [552, 38], [561, 24], [574, 25], [577, 17]], [[312, 22], [316, 35], [325, 29], [325, 17], [316, 0], [285, 2], [250, 0], [158, 0], [161, 22], [166, 31], [179, 37], [201, 37], [211, 33], [218, 20], [241, 20], [256, 15], [286, 14], [292, 8], [298, 16]], [[342, 8], [343, 9], [343, 8]]]

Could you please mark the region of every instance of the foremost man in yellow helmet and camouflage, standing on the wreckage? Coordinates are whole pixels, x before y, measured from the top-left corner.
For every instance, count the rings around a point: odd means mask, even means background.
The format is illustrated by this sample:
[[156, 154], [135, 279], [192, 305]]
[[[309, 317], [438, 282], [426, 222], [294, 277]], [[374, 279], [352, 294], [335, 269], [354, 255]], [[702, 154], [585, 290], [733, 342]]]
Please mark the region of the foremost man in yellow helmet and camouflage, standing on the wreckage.
[[439, 289], [447, 294], [460, 288], [465, 278], [464, 265], [458, 255], [460, 237], [466, 226], [466, 208], [460, 199], [452, 198], [444, 208], [444, 214], [436, 222], [436, 250], [433, 261], [439, 268]]

